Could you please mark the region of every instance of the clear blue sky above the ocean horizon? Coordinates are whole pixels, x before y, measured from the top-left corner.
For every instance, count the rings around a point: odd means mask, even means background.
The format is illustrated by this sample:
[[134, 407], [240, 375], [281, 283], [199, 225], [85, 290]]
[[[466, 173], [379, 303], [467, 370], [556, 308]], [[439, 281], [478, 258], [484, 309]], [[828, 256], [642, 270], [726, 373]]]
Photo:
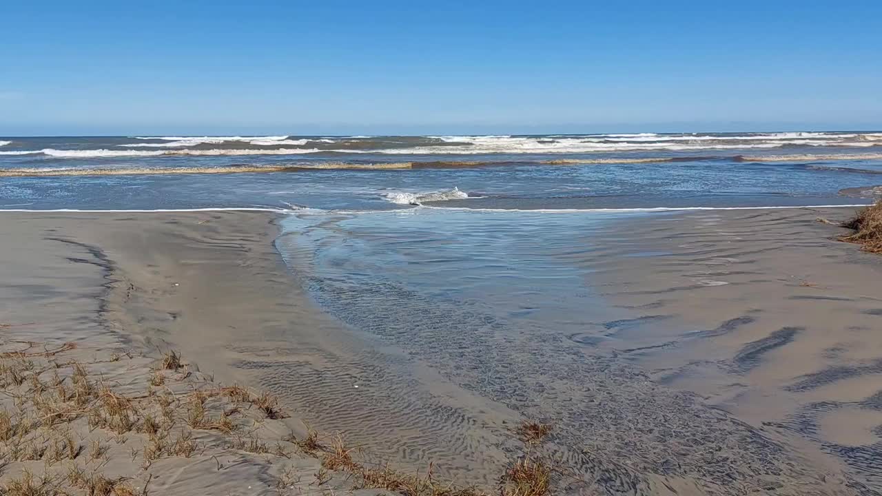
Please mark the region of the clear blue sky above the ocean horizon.
[[882, 128], [882, 2], [6, 2], [0, 135]]

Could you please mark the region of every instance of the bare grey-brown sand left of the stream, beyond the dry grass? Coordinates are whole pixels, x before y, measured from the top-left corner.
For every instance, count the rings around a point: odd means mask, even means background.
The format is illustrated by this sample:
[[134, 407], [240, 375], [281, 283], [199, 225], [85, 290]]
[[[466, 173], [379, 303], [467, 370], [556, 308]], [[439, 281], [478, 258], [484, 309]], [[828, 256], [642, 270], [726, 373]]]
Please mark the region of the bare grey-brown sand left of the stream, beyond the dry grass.
[[[199, 381], [242, 384], [285, 404], [287, 418], [274, 421], [280, 424], [267, 443], [279, 442], [288, 430], [301, 437], [314, 428], [326, 440], [343, 432], [366, 458], [413, 462], [403, 464], [413, 471], [438, 462], [448, 480], [495, 485], [508, 460], [500, 446], [519, 444], [511, 430], [521, 417], [413, 364], [407, 371], [378, 365], [395, 363], [389, 357], [395, 352], [359, 339], [304, 297], [273, 249], [275, 220], [274, 214], [245, 212], [4, 213], [5, 342], [10, 350], [20, 348], [16, 342], [50, 348], [74, 342], [78, 356], [145, 356], [137, 369], [125, 365], [135, 371], [127, 384], [144, 379], [162, 353], [175, 350], [198, 378], [196, 385], [183, 380], [181, 388], [199, 387]], [[359, 389], [366, 375], [390, 387]], [[421, 390], [423, 402], [402, 403], [395, 392], [403, 387]], [[459, 410], [474, 410], [480, 424], [475, 417], [437, 422]], [[321, 467], [314, 457], [309, 463]], [[255, 480], [252, 489], [275, 491], [278, 474], [255, 470], [230, 474], [230, 491], [241, 477]], [[206, 478], [193, 484], [215, 484], [213, 471], [194, 476]], [[347, 479], [317, 487], [314, 472], [311, 482], [302, 477], [298, 492], [352, 486]], [[163, 493], [190, 494], [195, 487], [173, 484]], [[218, 487], [227, 486], [211, 489]], [[238, 487], [229, 493], [258, 492]]]

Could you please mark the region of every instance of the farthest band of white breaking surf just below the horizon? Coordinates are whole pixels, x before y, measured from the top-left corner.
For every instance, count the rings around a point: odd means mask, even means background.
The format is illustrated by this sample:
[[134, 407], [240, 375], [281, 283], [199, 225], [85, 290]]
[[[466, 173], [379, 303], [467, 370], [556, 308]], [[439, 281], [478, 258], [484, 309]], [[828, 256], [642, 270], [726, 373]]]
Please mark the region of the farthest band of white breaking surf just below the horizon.
[[[163, 136], [136, 137], [138, 142], [98, 143], [95, 149], [17, 151], [15, 154], [45, 154], [62, 158], [151, 157], [167, 155], [259, 155], [259, 154], [610, 154], [628, 152], [693, 152], [795, 147], [882, 148], [882, 133], [781, 132], [729, 134], [596, 134], [573, 136], [391, 136], [377, 138], [310, 138], [291, 136]], [[795, 150], [796, 151], [796, 150]], [[801, 150], [805, 151], [805, 150]], [[845, 150], [843, 150], [845, 152]], [[783, 152], [782, 152], [783, 153]], [[0, 154], [12, 154], [0, 152]], [[749, 157], [757, 162], [803, 160], [811, 154], [789, 154], [785, 158]], [[822, 156], [822, 155], [818, 155]], [[833, 155], [830, 155], [833, 156]], [[792, 157], [792, 158], [790, 158]], [[871, 158], [868, 154], [864, 158]], [[570, 160], [570, 159], [566, 159]], [[608, 160], [606, 158], [600, 161]], [[616, 159], [619, 160], [619, 159]], [[635, 162], [657, 160], [633, 159]], [[811, 160], [811, 158], [805, 159]], [[830, 160], [853, 160], [837, 155]], [[863, 160], [856, 159], [856, 160]], [[637, 162], [639, 161], [639, 162]], [[622, 161], [619, 161], [622, 162]], [[563, 162], [559, 162], [563, 163]], [[582, 163], [591, 163], [583, 161]], [[603, 162], [597, 162], [603, 163]]]

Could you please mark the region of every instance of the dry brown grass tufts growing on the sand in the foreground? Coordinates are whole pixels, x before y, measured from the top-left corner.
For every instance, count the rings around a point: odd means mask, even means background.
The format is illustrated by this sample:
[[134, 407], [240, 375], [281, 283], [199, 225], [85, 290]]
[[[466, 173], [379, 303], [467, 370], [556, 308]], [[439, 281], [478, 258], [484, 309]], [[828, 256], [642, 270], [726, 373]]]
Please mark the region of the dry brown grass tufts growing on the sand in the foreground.
[[[475, 487], [438, 481], [431, 465], [422, 473], [411, 474], [393, 470], [388, 464], [366, 462], [362, 450], [346, 446], [339, 434], [323, 440], [308, 428], [303, 439], [292, 434], [284, 440], [267, 442], [258, 436], [260, 425], [287, 417], [276, 397], [252, 393], [239, 385], [205, 387], [211, 383], [194, 382], [180, 353], [174, 350], [165, 353], [161, 363], [146, 375], [146, 394], [139, 394], [143, 389], [130, 387], [123, 392], [103, 380], [95, 365], [98, 362], [55, 360], [57, 354], [75, 348], [65, 344], [39, 350], [28, 343], [26, 349], [0, 355], [0, 388], [14, 399], [13, 408], [0, 409], [0, 459], [40, 463], [46, 472], [37, 477], [34, 472], [20, 469], [19, 477], [4, 477], [0, 495], [57, 496], [75, 490], [72, 493], [144, 496], [146, 485], [137, 489], [132, 479], [106, 477], [101, 472], [119, 449], [125, 450], [125, 458], [131, 453], [134, 477], [138, 473], [146, 475], [141, 470], [151, 470], [157, 460], [190, 458], [209, 448], [286, 459], [299, 450], [318, 459], [321, 465], [316, 480], [309, 483], [312, 485], [325, 485], [334, 473], [342, 473], [353, 489], [384, 489], [405, 496], [489, 494]], [[131, 359], [131, 354], [115, 356], [116, 361]], [[83, 437], [78, 438], [71, 425], [80, 419], [88, 426], [88, 433], [80, 431]], [[215, 440], [209, 447], [199, 441], [212, 438], [200, 438], [198, 432], [202, 436], [209, 432], [227, 436], [228, 442]], [[526, 454], [505, 470], [498, 492], [500, 496], [546, 496], [555, 472], [547, 458], [539, 454], [550, 427], [525, 422], [515, 432], [527, 447]], [[126, 446], [115, 448], [112, 440]], [[66, 474], [52, 469], [64, 463], [70, 463]], [[221, 462], [218, 467], [221, 470]], [[293, 477], [290, 473], [280, 477], [280, 494], [294, 493], [287, 492], [295, 485]]]

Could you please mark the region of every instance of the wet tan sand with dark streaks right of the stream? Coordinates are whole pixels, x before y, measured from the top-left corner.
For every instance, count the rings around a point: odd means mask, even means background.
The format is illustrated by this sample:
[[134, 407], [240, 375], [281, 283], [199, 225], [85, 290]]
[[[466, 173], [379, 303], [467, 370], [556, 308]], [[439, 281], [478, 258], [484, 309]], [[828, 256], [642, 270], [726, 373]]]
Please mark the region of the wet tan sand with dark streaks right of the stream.
[[853, 212], [625, 222], [623, 234], [602, 238], [591, 283], [636, 316], [586, 336], [659, 384], [766, 432], [809, 440], [878, 491], [882, 258], [835, 241], [846, 230], [817, 220]]

